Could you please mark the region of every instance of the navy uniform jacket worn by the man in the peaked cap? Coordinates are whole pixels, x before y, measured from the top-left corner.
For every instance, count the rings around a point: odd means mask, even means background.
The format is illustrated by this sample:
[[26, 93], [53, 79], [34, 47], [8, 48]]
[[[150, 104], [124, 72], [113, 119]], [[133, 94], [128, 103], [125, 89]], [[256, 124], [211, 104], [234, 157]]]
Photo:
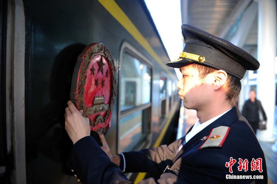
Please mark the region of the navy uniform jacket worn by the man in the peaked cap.
[[[205, 142], [200, 139], [220, 126], [230, 127], [222, 147], [199, 149]], [[190, 129], [191, 130], [191, 129]], [[189, 130], [189, 131], [190, 131]], [[148, 178], [140, 183], [251, 183], [251, 180], [228, 180], [226, 174], [263, 175], [263, 180], [256, 183], [267, 183], [267, 169], [264, 153], [247, 120], [237, 107], [233, 107], [223, 116], [192, 137], [175, 155], [177, 147], [184, 139], [178, 139], [169, 146], [144, 149], [138, 152], [124, 153], [126, 172], [159, 171], [160, 178]], [[236, 159], [232, 166], [233, 173], [225, 166], [230, 157]], [[239, 158], [248, 159], [248, 171], [238, 171]], [[262, 172], [251, 171], [252, 158], [262, 158]], [[122, 162], [123, 160], [121, 160]], [[111, 162], [97, 142], [87, 136], [77, 141], [69, 155], [71, 169], [84, 184], [87, 183], [132, 183], [120, 168]], [[166, 166], [170, 170], [163, 173]]]

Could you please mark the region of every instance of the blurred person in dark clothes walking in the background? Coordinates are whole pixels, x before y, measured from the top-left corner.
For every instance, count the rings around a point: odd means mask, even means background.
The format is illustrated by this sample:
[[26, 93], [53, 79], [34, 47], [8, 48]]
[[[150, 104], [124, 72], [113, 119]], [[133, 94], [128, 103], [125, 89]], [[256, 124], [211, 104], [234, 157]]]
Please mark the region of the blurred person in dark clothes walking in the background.
[[255, 134], [259, 128], [259, 122], [267, 121], [264, 108], [262, 107], [261, 102], [256, 99], [256, 91], [250, 90], [249, 99], [246, 100], [243, 105], [242, 116], [247, 119]]

